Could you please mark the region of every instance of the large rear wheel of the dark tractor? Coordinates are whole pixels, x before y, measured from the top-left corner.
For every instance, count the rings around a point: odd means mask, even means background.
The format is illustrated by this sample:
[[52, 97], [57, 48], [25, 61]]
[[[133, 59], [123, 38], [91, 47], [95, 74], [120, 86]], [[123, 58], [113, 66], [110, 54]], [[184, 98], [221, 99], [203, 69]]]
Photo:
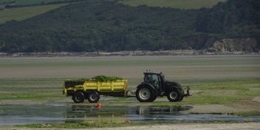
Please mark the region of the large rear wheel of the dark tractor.
[[155, 100], [155, 93], [149, 87], [141, 86], [136, 90], [136, 98], [140, 102], [152, 102]]

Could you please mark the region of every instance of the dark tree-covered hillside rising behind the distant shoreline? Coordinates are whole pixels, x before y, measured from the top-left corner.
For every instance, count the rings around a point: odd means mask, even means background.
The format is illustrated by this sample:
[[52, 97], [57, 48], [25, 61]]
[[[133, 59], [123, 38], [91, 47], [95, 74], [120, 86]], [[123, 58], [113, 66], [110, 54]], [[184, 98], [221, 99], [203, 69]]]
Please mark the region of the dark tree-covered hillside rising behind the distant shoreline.
[[[248, 37], [256, 38], [259, 44], [259, 1], [235, 1], [196, 10], [133, 7], [115, 2], [70, 4], [21, 22], [0, 25], [0, 51], [202, 49], [209, 39], [213, 43], [218, 39]], [[232, 2], [236, 4], [228, 6]], [[251, 9], [245, 15], [234, 15], [233, 11], [244, 12], [241, 4]], [[226, 27], [221, 21], [225, 21], [224, 16], [237, 21]], [[211, 25], [207, 26], [210, 31], [204, 30], [203, 25]], [[219, 30], [221, 26], [225, 30]]]

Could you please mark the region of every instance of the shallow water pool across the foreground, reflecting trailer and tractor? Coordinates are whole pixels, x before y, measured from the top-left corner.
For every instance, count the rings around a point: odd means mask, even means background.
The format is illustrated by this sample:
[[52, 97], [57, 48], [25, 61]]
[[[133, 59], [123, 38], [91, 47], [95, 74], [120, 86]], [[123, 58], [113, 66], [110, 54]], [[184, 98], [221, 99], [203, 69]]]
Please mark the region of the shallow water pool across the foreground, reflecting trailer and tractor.
[[122, 120], [131, 122], [260, 122], [260, 117], [235, 115], [184, 114], [190, 106], [102, 106], [86, 105], [2, 105], [0, 126], [36, 123], [89, 122]]

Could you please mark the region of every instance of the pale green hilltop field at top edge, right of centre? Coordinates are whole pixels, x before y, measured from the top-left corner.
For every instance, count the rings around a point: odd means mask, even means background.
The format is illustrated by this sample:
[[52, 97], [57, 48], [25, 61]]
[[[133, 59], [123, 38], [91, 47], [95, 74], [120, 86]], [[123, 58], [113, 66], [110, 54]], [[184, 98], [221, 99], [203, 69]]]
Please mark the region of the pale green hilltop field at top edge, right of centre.
[[124, 0], [123, 4], [129, 6], [160, 6], [183, 9], [211, 8], [218, 2], [226, 0]]

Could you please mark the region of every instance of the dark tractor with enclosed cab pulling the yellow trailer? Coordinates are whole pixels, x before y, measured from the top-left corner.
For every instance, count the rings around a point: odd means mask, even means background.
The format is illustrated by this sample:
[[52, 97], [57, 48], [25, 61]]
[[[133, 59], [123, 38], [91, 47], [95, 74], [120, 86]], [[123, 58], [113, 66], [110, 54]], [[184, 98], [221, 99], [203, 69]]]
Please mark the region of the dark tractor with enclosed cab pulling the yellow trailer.
[[178, 102], [186, 96], [191, 96], [188, 86], [185, 93], [181, 84], [165, 81], [162, 72], [144, 72], [143, 74], [143, 82], [136, 89], [136, 98], [140, 102], [152, 102], [157, 96], [167, 96], [169, 101]]

